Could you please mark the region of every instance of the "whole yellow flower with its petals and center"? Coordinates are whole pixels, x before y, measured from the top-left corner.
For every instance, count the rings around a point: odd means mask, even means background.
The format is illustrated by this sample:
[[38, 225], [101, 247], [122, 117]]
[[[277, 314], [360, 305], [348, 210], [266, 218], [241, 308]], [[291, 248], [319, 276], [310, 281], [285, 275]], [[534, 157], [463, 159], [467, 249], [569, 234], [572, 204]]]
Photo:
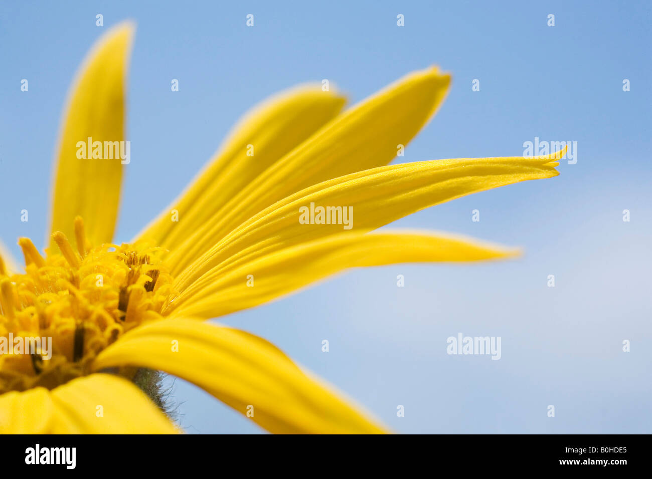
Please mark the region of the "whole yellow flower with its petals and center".
[[[273, 433], [387, 431], [271, 343], [205, 320], [347, 268], [512, 257], [462, 237], [373, 230], [554, 177], [560, 153], [389, 166], [445, 98], [449, 75], [413, 72], [346, 111], [340, 94], [303, 85], [246, 115], [170, 207], [131, 242], [113, 243], [128, 165], [103, 154], [125, 141], [133, 33], [130, 23], [111, 29], [72, 87], [44, 254], [21, 238], [24, 270], [0, 259], [0, 337], [5, 349], [14, 343], [0, 355], [0, 432], [179, 432], [147, 371], [190, 381]], [[87, 141], [92, 151], [80, 155]], [[302, 209], [329, 206], [355, 213], [353, 227], [299, 221]], [[34, 351], [34, 338], [51, 338], [51, 351]]]

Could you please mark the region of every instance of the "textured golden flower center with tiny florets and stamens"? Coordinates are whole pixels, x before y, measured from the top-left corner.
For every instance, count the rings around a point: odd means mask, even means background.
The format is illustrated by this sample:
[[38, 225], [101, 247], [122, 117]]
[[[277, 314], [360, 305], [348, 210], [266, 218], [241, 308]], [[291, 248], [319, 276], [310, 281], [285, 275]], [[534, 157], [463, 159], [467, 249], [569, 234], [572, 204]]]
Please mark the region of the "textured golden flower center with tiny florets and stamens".
[[60, 252], [45, 258], [20, 239], [24, 274], [8, 275], [0, 261], [0, 394], [87, 375], [121, 334], [162, 317], [172, 293], [162, 248], [140, 241], [93, 247], [81, 218], [75, 236], [76, 250], [54, 233]]

